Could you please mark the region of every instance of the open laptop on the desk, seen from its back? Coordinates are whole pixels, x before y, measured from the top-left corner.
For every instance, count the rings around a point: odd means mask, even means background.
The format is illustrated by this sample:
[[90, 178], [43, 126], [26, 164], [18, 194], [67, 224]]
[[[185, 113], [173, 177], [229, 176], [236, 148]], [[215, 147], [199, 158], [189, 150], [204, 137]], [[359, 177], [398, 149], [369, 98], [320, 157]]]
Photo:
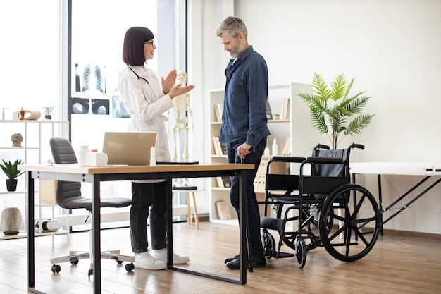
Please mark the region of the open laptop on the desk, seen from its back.
[[106, 132], [103, 152], [107, 154], [107, 164], [148, 165], [155, 145], [156, 133]]

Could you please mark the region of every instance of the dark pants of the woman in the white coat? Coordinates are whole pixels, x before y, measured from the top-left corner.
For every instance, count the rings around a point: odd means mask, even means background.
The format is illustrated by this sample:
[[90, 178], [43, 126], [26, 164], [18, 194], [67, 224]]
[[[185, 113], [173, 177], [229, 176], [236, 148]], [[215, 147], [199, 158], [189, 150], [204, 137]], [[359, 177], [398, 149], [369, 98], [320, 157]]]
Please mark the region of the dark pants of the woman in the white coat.
[[132, 183], [132, 207], [130, 208], [130, 240], [132, 251], [146, 252], [147, 219], [150, 214], [151, 247], [166, 247], [166, 188], [167, 182]]

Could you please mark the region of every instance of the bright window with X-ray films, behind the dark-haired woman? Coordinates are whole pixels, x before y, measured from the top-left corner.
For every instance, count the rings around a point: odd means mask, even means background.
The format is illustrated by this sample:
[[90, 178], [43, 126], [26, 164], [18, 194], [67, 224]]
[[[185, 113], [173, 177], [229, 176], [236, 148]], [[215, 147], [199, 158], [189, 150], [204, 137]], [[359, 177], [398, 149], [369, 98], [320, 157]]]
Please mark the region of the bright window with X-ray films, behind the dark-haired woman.
[[[126, 30], [144, 26], [158, 47], [156, 0], [72, 1], [70, 137], [75, 148], [101, 150], [106, 131], [124, 131], [127, 114], [119, 99], [118, 78]], [[160, 53], [159, 53], [160, 54]], [[158, 60], [148, 66], [157, 72]]]

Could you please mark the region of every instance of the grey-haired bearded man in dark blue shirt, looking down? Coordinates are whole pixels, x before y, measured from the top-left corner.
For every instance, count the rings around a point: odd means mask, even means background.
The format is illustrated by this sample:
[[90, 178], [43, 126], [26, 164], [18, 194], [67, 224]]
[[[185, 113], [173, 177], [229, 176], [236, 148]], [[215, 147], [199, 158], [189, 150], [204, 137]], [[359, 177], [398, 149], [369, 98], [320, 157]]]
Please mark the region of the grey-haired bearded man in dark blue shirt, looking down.
[[[265, 59], [248, 44], [247, 34], [242, 20], [234, 17], [223, 20], [214, 32], [231, 57], [225, 69], [227, 82], [219, 140], [228, 145], [229, 163], [255, 164], [254, 170], [247, 171], [249, 251], [252, 267], [265, 267], [254, 178], [266, 147], [266, 137], [270, 135], [266, 125], [268, 68]], [[239, 215], [237, 178], [232, 179], [230, 201]], [[239, 255], [225, 259], [225, 264], [230, 269], [239, 269]]]

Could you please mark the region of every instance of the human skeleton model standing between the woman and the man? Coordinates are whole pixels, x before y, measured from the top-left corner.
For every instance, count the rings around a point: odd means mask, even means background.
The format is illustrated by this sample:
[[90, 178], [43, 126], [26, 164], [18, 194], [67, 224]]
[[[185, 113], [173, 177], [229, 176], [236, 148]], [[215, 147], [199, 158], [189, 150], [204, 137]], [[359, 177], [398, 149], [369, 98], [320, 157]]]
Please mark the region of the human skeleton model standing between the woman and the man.
[[[182, 85], [187, 84], [187, 73], [185, 71], [180, 71], [178, 73], [178, 81], [182, 83]], [[185, 146], [184, 146], [184, 161], [188, 161], [188, 126], [192, 125], [192, 109], [190, 109], [190, 94], [182, 94], [180, 96], [176, 96], [173, 99], [173, 110], [175, 111], [175, 125], [173, 125], [173, 161], [178, 161], [178, 137], [180, 130], [185, 131]], [[185, 111], [190, 118], [187, 116], [181, 116], [181, 112]]]

